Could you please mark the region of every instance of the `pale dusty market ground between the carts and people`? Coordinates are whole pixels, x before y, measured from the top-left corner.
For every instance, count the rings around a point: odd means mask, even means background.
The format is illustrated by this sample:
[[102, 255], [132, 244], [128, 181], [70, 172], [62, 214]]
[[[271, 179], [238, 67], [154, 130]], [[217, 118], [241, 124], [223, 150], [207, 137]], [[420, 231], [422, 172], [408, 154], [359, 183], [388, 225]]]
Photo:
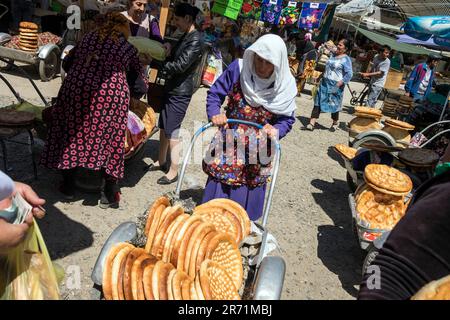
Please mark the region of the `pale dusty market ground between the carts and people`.
[[[29, 72], [33, 70], [26, 69]], [[42, 104], [31, 84], [17, 73], [2, 73], [20, 95], [30, 102]], [[38, 79], [35, 73], [32, 73]], [[58, 93], [60, 78], [51, 82], [36, 80], [44, 96], [49, 99]], [[352, 89], [361, 90], [351, 83]], [[206, 120], [207, 89], [194, 95], [183, 127], [193, 132], [198, 121]], [[328, 130], [331, 119], [323, 114], [318, 128], [304, 131], [302, 127], [312, 110], [311, 96], [303, 94], [297, 100], [296, 121], [292, 131], [282, 140], [282, 158], [269, 231], [278, 240], [280, 254], [287, 271], [282, 299], [354, 299], [361, 278], [364, 253], [352, 233], [348, 208], [346, 171], [332, 146], [346, 143], [345, 125], [351, 118], [350, 93], [346, 90], [340, 126], [336, 132]], [[14, 101], [9, 89], [0, 83], [0, 106]], [[19, 139], [26, 140], [26, 136]], [[34, 149], [38, 160], [43, 142]], [[29, 151], [26, 147], [8, 143], [9, 171], [13, 178], [30, 183], [47, 200], [47, 216], [39, 222], [50, 254], [67, 272], [62, 287], [65, 299], [90, 299], [90, 275], [97, 255], [109, 234], [120, 223], [135, 220], [155, 197], [173, 191], [175, 185], [160, 186], [156, 180], [160, 172], [144, 173], [143, 167], [157, 157], [158, 134], [145, 146], [143, 160], [126, 167], [121, 182], [120, 209], [102, 210], [97, 207], [98, 195], [78, 192], [76, 201], [66, 203], [56, 190], [59, 175], [39, 167], [38, 179], [33, 180]], [[1, 166], [3, 170], [3, 166]], [[183, 190], [199, 199], [206, 181], [199, 164], [192, 164]], [[182, 193], [187, 194], [187, 191]], [[77, 271], [80, 284], [77, 286]]]

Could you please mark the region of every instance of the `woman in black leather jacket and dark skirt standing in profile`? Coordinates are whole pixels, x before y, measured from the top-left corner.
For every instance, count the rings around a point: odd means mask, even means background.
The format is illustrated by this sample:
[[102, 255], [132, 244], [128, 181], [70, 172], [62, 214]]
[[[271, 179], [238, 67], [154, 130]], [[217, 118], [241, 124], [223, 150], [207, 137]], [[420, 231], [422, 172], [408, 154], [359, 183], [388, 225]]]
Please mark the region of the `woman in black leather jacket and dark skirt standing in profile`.
[[[178, 180], [178, 133], [194, 92], [194, 74], [202, 55], [201, 34], [195, 27], [199, 9], [188, 3], [175, 7], [175, 25], [184, 32], [161, 73], [166, 79], [164, 105], [159, 117], [160, 145], [158, 161], [148, 166], [149, 171], [166, 173], [158, 184], [171, 184]], [[149, 100], [151, 101], [151, 93]], [[166, 163], [170, 152], [170, 166]]]

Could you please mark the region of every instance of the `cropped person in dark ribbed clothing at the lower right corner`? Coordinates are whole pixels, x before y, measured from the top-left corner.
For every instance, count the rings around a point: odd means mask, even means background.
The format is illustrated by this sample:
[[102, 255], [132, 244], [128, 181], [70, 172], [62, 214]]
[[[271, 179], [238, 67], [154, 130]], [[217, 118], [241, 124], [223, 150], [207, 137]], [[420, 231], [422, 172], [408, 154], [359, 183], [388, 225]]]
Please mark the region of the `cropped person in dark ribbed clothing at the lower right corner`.
[[[450, 162], [450, 145], [443, 161]], [[449, 274], [450, 171], [444, 171], [417, 189], [364, 275], [358, 299], [410, 299]]]

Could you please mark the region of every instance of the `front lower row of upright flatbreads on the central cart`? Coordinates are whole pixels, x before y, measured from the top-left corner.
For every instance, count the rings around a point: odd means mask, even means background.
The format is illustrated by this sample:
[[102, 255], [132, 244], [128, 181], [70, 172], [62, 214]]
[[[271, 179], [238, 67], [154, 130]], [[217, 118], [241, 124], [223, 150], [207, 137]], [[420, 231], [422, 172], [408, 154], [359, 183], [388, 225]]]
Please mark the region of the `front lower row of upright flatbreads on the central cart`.
[[235, 280], [220, 263], [206, 259], [195, 277], [142, 248], [118, 243], [105, 260], [106, 300], [240, 300]]

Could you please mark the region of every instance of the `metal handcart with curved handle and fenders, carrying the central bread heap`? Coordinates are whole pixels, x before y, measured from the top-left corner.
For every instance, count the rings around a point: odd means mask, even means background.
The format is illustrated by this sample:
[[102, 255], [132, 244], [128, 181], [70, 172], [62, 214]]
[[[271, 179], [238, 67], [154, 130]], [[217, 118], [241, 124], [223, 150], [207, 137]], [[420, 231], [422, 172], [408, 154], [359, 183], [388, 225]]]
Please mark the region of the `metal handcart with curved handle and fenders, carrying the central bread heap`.
[[[262, 129], [261, 125], [247, 121], [229, 119], [228, 123], [245, 124], [256, 127], [258, 129]], [[190, 155], [192, 153], [192, 149], [195, 145], [195, 142], [203, 132], [205, 132], [207, 129], [211, 127], [213, 127], [213, 124], [208, 123], [207, 125], [200, 128], [192, 138], [188, 152], [184, 157], [184, 161], [181, 167], [179, 180], [174, 193], [175, 199], [180, 199], [181, 186], [183, 183], [187, 164]], [[254, 263], [249, 264], [248, 277], [247, 279], [245, 279], [245, 292], [246, 292], [245, 296], [254, 300], [279, 300], [281, 297], [281, 292], [284, 283], [284, 276], [286, 273], [286, 263], [284, 259], [280, 256], [268, 256], [265, 250], [266, 246], [268, 245], [269, 239], [269, 232], [266, 226], [269, 217], [270, 207], [272, 204], [272, 196], [275, 188], [275, 182], [278, 176], [278, 169], [281, 158], [281, 147], [278, 141], [275, 142], [275, 150], [276, 152], [273, 161], [272, 179], [270, 182], [269, 192], [264, 204], [264, 211], [263, 216], [261, 218], [261, 223], [260, 224], [254, 223], [254, 226], [256, 226], [262, 234], [262, 240], [259, 244], [257, 253], [254, 256], [249, 257], [250, 258], [249, 260], [253, 259]], [[101, 292], [103, 265], [105, 263], [105, 259], [110, 248], [115, 243], [118, 242], [132, 241], [137, 236], [137, 234], [138, 234], [137, 226], [134, 222], [125, 222], [112, 232], [112, 234], [104, 244], [97, 258], [97, 261], [95, 263], [91, 275], [91, 279], [94, 282], [95, 290]], [[97, 296], [96, 298], [100, 298], [100, 296]]]

